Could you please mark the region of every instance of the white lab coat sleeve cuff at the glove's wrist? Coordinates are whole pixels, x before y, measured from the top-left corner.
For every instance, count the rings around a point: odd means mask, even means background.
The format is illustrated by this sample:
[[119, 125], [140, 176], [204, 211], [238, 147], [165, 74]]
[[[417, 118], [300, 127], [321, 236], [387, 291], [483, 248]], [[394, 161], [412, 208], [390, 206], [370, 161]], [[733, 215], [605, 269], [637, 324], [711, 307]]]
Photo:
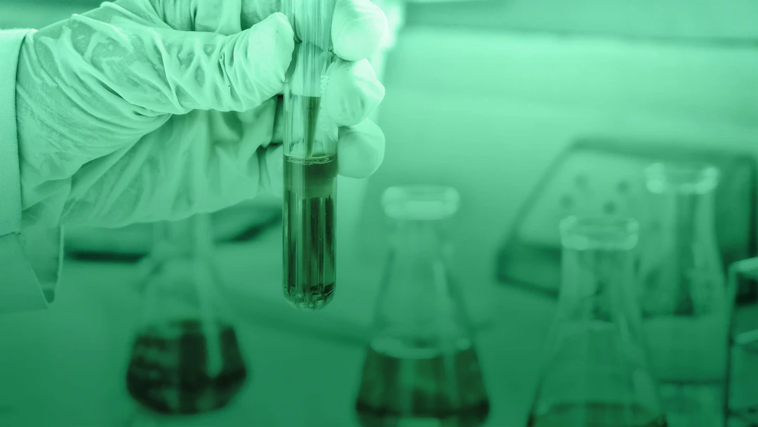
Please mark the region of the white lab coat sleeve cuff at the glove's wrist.
[[61, 265], [61, 231], [21, 231], [16, 68], [31, 30], [0, 31], [0, 313], [43, 309]]

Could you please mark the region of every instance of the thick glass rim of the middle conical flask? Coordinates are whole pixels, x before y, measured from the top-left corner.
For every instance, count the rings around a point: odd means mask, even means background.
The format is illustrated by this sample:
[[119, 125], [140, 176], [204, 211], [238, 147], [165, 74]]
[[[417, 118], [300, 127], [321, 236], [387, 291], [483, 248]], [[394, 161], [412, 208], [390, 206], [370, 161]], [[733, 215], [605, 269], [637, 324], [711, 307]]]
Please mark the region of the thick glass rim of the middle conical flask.
[[384, 190], [381, 204], [384, 214], [390, 218], [432, 221], [455, 215], [460, 195], [453, 187], [400, 185]]

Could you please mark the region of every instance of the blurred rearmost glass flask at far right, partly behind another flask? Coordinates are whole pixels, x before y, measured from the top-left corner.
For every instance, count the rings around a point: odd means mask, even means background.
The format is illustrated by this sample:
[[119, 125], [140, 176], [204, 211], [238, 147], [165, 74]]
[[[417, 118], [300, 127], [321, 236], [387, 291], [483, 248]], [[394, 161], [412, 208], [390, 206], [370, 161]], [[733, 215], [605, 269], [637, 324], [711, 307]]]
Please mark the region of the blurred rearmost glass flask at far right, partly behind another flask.
[[656, 164], [641, 263], [642, 324], [671, 427], [725, 423], [731, 301], [716, 243], [718, 171]]

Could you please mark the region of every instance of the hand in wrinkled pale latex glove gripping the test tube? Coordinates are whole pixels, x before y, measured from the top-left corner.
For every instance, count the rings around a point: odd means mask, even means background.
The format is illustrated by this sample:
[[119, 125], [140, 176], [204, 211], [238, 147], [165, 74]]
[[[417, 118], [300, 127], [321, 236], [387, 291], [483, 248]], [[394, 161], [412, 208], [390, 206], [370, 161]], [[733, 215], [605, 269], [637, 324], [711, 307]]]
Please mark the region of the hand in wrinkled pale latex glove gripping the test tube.
[[[307, 1], [307, 0], [303, 0]], [[294, 49], [276, 0], [121, 0], [24, 40], [17, 73], [23, 223], [117, 227], [281, 191], [277, 105]], [[368, 58], [387, 18], [337, 0], [342, 59], [323, 104], [339, 172], [367, 177], [384, 135]]]

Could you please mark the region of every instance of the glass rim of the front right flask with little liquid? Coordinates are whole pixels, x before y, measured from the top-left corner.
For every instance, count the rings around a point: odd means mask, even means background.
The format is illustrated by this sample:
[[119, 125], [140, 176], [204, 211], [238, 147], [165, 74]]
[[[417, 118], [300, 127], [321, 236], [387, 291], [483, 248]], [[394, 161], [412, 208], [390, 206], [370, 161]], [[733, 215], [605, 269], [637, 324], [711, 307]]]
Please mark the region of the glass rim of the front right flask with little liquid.
[[560, 222], [561, 243], [572, 250], [631, 250], [640, 224], [633, 218], [570, 216]]

